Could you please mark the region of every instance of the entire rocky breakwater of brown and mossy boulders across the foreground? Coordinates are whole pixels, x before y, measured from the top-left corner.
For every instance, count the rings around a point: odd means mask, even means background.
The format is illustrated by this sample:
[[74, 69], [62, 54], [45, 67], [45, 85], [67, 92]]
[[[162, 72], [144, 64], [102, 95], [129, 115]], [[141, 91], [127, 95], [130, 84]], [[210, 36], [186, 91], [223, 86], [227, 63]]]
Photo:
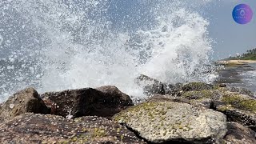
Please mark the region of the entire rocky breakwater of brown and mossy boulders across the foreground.
[[0, 143], [256, 143], [250, 92], [144, 75], [136, 82], [149, 97], [135, 106], [115, 86], [21, 90], [1, 104]]

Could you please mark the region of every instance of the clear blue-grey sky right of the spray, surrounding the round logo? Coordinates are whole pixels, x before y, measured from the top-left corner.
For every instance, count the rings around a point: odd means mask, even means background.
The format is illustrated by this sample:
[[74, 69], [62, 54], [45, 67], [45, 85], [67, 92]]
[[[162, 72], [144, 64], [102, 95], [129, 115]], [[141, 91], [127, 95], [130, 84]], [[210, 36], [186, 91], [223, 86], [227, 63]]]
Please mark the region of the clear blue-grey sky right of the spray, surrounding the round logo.
[[[214, 39], [214, 59], [256, 48], [256, 1], [220, 0], [216, 3], [205, 16], [210, 21], [210, 38]], [[242, 3], [249, 5], [254, 12], [253, 19], [245, 25], [234, 22], [232, 18], [234, 6]]]

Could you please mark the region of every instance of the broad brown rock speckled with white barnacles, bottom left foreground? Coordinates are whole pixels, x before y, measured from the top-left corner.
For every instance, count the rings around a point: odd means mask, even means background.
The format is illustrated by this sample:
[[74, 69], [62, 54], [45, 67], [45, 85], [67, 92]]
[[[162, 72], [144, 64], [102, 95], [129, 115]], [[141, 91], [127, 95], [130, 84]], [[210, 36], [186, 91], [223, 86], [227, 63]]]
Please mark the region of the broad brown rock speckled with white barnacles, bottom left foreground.
[[0, 131], [0, 143], [144, 143], [126, 127], [96, 116], [22, 114]]

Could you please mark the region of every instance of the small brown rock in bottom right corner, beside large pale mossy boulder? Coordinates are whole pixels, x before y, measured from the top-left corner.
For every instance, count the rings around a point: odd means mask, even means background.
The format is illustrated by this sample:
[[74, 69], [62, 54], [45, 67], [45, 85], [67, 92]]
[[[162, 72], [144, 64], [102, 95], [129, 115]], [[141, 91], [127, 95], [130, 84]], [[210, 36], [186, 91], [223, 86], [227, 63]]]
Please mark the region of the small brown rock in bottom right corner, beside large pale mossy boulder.
[[227, 123], [228, 132], [222, 143], [252, 144], [256, 143], [255, 132], [236, 122]]

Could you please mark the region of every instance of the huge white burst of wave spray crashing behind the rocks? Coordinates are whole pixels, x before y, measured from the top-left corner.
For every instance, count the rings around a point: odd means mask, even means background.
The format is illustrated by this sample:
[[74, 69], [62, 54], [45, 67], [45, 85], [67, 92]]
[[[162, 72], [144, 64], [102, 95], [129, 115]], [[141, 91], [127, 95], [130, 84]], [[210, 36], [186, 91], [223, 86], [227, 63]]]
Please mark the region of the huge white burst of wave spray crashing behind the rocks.
[[139, 74], [162, 82], [212, 82], [210, 0], [6, 0], [0, 2], [0, 102], [114, 85], [143, 97]]

